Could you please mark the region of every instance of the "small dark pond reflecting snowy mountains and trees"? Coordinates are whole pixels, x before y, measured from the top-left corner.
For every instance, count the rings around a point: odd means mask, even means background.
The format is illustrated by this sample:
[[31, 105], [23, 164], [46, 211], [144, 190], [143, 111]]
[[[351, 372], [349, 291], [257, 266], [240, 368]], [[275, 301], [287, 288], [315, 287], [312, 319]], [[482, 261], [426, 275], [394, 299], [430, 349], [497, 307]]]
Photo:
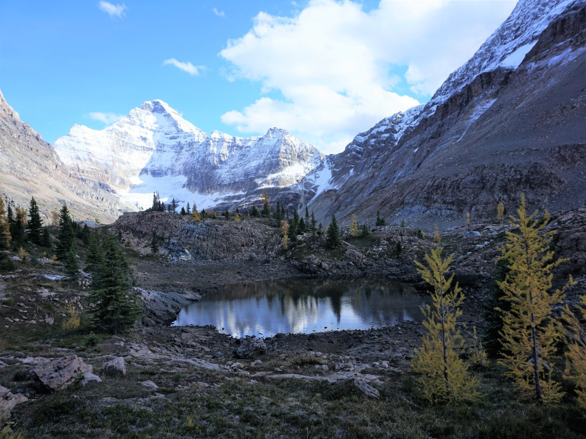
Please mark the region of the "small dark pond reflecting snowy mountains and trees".
[[367, 329], [421, 321], [425, 298], [385, 279], [248, 282], [190, 304], [173, 325], [213, 325], [233, 337]]

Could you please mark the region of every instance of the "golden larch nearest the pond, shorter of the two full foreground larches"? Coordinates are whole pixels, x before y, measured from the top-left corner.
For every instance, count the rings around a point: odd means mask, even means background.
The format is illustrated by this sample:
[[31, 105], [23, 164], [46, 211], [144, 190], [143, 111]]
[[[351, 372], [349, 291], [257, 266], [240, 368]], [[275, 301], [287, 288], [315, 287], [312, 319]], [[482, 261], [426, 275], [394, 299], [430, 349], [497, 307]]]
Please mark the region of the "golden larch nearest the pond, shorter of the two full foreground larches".
[[418, 273], [433, 287], [432, 306], [421, 308], [425, 315], [423, 325], [427, 334], [421, 348], [415, 349], [411, 368], [420, 373], [423, 396], [431, 403], [473, 399], [478, 380], [469, 375], [468, 366], [459, 358], [464, 339], [456, 326], [464, 301], [462, 289], [456, 283], [450, 291], [454, 275], [446, 279], [452, 256], [442, 259], [438, 245], [430, 255], [425, 255], [429, 267], [415, 261]]

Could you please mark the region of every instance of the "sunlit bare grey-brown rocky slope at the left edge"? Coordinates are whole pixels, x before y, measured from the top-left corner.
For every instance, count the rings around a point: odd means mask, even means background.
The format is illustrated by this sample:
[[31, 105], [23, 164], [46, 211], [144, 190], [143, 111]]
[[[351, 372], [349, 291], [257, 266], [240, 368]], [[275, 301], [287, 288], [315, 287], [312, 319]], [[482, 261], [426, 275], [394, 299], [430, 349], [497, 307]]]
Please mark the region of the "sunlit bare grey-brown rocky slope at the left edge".
[[0, 163], [0, 196], [23, 207], [35, 197], [43, 215], [67, 203], [74, 218], [113, 221], [131, 208], [107, 184], [69, 172], [53, 147], [21, 121], [2, 92]]

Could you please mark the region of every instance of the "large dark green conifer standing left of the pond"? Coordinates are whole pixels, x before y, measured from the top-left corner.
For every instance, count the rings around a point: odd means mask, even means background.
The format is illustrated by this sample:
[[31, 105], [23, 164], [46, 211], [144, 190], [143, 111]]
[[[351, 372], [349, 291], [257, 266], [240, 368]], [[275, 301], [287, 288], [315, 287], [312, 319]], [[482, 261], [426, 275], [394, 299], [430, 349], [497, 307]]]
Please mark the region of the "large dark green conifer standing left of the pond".
[[130, 267], [120, 243], [111, 234], [104, 236], [104, 260], [94, 285], [90, 299], [96, 306], [89, 311], [94, 327], [117, 334], [141, 316], [141, 303], [129, 291]]

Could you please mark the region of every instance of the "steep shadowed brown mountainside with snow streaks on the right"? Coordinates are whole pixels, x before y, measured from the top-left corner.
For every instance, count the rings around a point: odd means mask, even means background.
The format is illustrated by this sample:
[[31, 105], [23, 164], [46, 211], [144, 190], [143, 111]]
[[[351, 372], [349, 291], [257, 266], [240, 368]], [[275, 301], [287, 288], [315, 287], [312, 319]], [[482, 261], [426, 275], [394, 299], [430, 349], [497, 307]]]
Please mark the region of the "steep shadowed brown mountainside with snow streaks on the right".
[[[520, 0], [427, 104], [360, 133], [333, 163], [320, 218], [452, 224], [586, 200], [586, 5]], [[431, 226], [432, 227], [432, 226]]]

